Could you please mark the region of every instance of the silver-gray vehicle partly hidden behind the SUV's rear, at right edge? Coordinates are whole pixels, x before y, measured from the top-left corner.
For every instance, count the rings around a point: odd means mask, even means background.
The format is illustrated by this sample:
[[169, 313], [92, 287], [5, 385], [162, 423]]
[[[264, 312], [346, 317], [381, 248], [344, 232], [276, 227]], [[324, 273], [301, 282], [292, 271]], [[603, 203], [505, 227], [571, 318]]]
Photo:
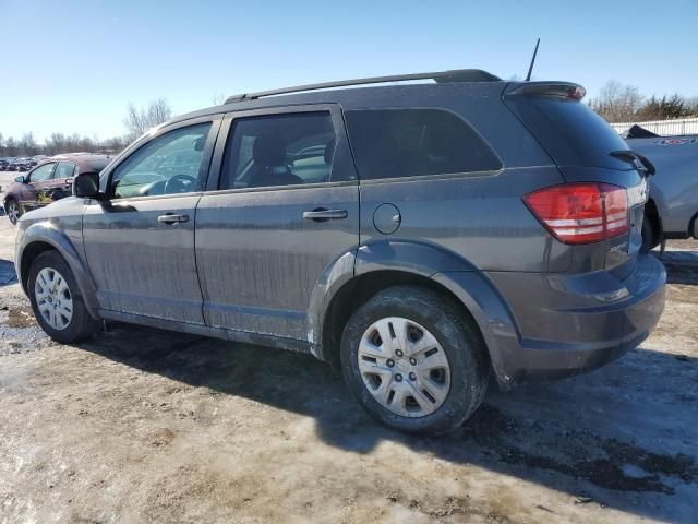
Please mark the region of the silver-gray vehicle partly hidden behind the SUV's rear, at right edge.
[[659, 136], [634, 126], [628, 146], [654, 165], [642, 225], [642, 249], [664, 238], [698, 238], [698, 135]]

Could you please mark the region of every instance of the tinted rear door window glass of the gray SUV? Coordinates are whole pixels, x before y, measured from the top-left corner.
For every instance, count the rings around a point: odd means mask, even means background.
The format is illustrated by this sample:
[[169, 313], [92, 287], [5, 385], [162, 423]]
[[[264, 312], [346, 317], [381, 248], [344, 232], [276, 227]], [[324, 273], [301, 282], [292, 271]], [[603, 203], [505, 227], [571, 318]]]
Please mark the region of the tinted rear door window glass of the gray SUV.
[[334, 154], [329, 112], [238, 119], [228, 138], [220, 189], [326, 182]]

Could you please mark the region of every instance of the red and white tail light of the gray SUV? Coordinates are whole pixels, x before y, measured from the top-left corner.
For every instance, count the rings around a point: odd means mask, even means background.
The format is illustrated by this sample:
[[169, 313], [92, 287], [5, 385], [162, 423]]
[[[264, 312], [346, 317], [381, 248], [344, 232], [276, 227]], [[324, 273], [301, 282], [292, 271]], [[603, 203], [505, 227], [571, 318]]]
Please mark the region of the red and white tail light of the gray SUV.
[[609, 183], [566, 183], [524, 196], [533, 215], [565, 243], [598, 242], [628, 231], [628, 195]]

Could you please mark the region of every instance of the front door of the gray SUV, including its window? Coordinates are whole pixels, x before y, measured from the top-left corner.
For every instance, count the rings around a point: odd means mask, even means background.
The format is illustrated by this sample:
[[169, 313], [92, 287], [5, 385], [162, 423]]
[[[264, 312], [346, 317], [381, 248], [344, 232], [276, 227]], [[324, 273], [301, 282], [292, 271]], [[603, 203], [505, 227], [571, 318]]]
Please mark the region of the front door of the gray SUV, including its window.
[[204, 323], [194, 221], [218, 127], [212, 118], [167, 127], [104, 174], [107, 198], [83, 215], [101, 309]]

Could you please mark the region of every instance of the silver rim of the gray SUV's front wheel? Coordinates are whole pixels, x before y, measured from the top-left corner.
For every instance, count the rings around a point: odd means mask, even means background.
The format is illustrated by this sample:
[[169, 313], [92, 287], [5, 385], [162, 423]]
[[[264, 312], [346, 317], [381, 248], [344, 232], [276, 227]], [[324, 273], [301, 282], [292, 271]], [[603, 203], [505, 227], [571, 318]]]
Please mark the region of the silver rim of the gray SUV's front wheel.
[[34, 284], [36, 306], [44, 321], [61, 331], [73, 318], [73, 298], [63, 275], [52, 267], [44, 267]]

